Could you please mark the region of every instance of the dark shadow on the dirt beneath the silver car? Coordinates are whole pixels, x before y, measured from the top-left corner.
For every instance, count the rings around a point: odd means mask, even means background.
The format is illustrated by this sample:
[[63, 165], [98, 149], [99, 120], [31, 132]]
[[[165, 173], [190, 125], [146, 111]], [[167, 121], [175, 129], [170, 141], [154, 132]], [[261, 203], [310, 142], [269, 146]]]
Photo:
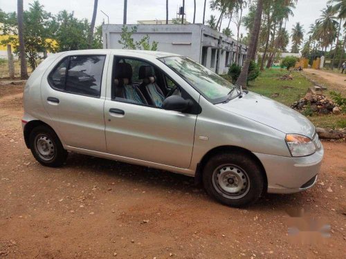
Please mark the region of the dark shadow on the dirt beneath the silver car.
[[[153, 186], [163, 191], [188, 192], [192, 194], [192, 197], [195, 195], [196, 198], [198, 197], [205, 201], [213, 200], [203, 189], [203, 184], [194, 184], [194, 178], [179, 173], [149, 168], [147, 166], [70, 153], [64, 168], [80, 169], [89, 176], [102, 177], [102, 175], [107, 175], [107, 178], [110, 178], [113, 182], [117, 180], [134, 182], [137, 186], [138, 184], [143, 184], [145, 187], [150, 188], [150, 186]], [[303, 207], [308, 197], [309, 194], [306, 192], [292, 194], [264, 193], [255, 204], [251, 204], [246, 209], [250, 211], [273, 209], [286, 211], [291, 207]]]

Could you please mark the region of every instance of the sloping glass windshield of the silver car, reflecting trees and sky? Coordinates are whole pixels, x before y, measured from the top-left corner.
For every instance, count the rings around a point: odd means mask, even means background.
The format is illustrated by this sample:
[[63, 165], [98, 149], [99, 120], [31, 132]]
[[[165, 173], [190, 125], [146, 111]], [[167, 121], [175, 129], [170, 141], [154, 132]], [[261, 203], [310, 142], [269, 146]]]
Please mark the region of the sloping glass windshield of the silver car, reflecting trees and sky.
[[235, 86], [188, 57], [163, 57], [160, 59], [213, 104], [225, 102]]

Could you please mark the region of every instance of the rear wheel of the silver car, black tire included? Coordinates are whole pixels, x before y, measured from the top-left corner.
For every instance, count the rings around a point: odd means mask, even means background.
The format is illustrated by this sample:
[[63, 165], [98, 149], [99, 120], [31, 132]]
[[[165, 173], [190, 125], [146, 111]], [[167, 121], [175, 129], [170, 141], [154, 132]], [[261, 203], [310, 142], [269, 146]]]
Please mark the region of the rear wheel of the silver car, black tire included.
[[[37, 144], [37, 142], [43, 142], [43, 144]], [[66, 161], [67, 151], [57, 134], [48, 126], [41, 125], [33, 128], [29, 135], [29, 145], [35, 159], [44, 166], [58, 167]], [[42, 146], [44, 146], [43, 151]]]

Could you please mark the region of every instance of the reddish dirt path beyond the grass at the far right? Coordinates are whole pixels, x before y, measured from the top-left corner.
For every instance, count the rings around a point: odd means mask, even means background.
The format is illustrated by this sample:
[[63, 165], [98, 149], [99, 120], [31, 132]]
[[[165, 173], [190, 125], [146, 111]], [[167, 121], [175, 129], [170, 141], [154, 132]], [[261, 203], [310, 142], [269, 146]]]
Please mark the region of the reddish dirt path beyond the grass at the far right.
[[304, 73], [309, 77], [325, 82], [327, 85], [331, 86], [331, 89], [328, 90], [337, 90], [341, 93], [346, 93], [346, 77], [345, 75], [341, 75], [341, 73], [336, 73], [336, 71], [337, 70], [334, 70], [334, 72], [328, 72], [312, 68], [304, 69]]

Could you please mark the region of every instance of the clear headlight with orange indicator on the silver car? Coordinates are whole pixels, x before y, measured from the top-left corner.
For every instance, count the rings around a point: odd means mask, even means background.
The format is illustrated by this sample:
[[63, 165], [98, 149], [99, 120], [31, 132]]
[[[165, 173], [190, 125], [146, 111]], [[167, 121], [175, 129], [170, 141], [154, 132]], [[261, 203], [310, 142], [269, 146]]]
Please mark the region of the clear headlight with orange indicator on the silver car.
[[315, 144], [313, 144], [312, 140], [303, 135], [287, 134], [285, 141], [293, 157], [304, 157], [316, 151]]

